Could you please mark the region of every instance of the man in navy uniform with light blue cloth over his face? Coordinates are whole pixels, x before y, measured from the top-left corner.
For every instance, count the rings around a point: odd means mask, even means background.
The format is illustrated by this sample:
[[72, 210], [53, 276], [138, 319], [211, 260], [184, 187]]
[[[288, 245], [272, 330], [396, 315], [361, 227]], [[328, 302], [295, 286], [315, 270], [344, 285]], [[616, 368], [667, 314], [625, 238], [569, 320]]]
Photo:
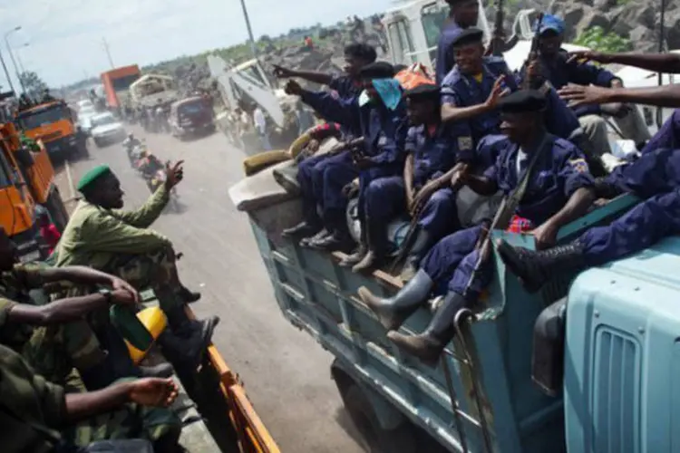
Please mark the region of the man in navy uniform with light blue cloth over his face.
[[[308, 92], [292, 81], [287, 84], [287, 92], [299, 95], [303, 102], [327, 120], [361, 132], [359, 135], [364, 138], [364, 152], [350, 155], [351, 166], [326, 169], [324, 186], [342, 190], [347, 183], [358, 177], [360, 216], [364, 217], [365, 188], [375, 178], [393, 176], [403, 169], [407, 121], [401, 88], [399, 82], [393, 79], [394, 69], [391, 64], [368, 64], [359, 75], [364, 81], [364, 92], [354, 99], [335, 99], [325, 93]], [[332, 250], [345, 249], [351, 245], [345, 221], [346, 199], [339, 191], [336, 198], [326, 198], [325, 201], [328, 201], [325, 208], [334, 207], [333, 217], [328, 218], [329, 226], [334, 232], [327, 239], [317, 241], [314, 246]], [[367, 231], [366, 234], [370, 236]], [[363, 253], [357, 254], [361, 256], [354, 264], [366, 254], [365, 249], [359, 252]]]

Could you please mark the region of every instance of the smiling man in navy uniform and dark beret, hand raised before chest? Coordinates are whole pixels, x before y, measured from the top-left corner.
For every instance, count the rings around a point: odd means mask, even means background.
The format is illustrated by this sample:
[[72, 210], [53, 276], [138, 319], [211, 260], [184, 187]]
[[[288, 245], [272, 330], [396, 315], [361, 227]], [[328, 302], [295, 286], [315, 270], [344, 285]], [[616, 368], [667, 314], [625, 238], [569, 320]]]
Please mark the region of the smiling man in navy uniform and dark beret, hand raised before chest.
[[[501, 57], [485, 57], [482, 32], [468, 28], [452, 42], [456, 65], [442, 82], [442, 121], [470, 122], [474, 146], [489, 134], [500, 133], [500, 98], [518, 90], [515, 76]], [[578, 119], [557, 92], [546, 91], [549, 109], [543, 121], [550, 133], [570, 140], [580, 127]]]

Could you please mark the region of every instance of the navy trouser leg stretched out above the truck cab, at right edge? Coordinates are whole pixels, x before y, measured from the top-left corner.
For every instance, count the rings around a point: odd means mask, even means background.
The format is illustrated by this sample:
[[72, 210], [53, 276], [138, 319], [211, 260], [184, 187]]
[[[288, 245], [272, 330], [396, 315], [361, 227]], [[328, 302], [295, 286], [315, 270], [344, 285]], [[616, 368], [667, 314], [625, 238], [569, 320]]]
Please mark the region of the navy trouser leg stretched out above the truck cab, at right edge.
[[678, 189], [646, 199], [610, 225], [590, 228], [579, 240], [586, 264], [597, 266], [644, 250], [676, 233], [680, 233]]

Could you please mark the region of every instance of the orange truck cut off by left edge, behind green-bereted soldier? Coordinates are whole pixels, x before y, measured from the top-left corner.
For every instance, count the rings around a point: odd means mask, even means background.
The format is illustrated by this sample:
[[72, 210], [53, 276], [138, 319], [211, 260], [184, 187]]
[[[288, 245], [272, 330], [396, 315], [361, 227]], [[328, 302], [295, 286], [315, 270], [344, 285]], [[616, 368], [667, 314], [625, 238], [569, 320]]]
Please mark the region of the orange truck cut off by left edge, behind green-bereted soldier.
[[68, 221], [47, 149], [40, 142], [38, 150], [22, 147], [11, 122], [0, 124], [0, 141], [0, 226], [23, 260], [45, 257], [37, 207], [44, 207], [60, 231]]

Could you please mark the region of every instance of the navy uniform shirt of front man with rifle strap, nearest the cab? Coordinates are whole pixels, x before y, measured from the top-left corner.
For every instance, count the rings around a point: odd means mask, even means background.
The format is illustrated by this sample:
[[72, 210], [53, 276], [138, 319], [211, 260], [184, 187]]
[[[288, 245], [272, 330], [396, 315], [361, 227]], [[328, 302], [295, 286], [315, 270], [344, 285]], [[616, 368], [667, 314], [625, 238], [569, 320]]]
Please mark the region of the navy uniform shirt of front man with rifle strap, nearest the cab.
[[[593, 177], [583, 153], [567, 140], [549, 134], [548, 143], [533, 169], [529, 187], [517, 209], [517, 215], [528, 218], [539, 226], [564, 207], [578, 188], [593, 186]], [[496, 164], [484, 172], [484, 176], [495, 180], [505, 195], [520, 183], [517, 171], [519, 145], [507, 140]], [[527, 159], [527, 165], [529, 160]]]

